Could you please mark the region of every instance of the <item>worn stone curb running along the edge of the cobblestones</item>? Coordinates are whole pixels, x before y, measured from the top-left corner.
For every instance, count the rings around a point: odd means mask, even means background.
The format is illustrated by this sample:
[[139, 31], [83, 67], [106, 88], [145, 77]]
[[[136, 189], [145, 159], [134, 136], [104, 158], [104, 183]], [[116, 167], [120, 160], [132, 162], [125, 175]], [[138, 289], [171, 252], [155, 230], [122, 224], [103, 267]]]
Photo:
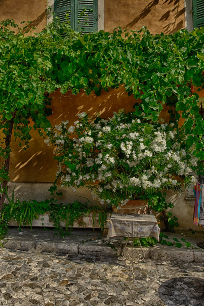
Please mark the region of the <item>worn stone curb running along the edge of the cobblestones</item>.
[[[119, 256], [122, 254], [123, 247], [115, 244], [110, 245], [102, 241], [88, 241], [85, 243], [57, 243], [51, 241], [32, 241], [19, 240], [17, 238], [5, 238], [0, 241], [4, 248], [22, 250], [22, 251], [37, 251], [48, 253], [63, 253], [63, 254], [80, 254], [80, 255], [94, 255], [94, 256]], [[187, 248], [174, 248], [163, 245], [155, 245], [154, 247], [143, 248], [145, 252], [145, 259], [161, 260], [161, 261], [176, 261], [186, 263], [204, 263], [204, 250], [192, 250]], [[132, 248], [129, 246], [125, 254], [131, 258]], [[134, 248], [134, 258], [138, 258], [141, 254], [141, 249]]]

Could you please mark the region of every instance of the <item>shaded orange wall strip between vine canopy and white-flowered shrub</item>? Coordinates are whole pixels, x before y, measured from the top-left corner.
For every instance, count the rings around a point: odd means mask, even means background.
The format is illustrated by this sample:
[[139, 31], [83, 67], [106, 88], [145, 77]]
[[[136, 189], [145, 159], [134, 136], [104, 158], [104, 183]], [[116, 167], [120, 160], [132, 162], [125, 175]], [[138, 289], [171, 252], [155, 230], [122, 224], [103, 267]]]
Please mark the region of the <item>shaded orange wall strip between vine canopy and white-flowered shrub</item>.
[[[77, 95], [73, 95], [68, 91], [62, 95], [60, 91], [55, 91], [51, 95], [51, 108], [53, 114], [49, 120], [53, 125], [59, 124], [62, 120], [69, 120], [72, 125], [78, 120], [78, 114], [85, 111], [89, 116], [100, 115], [103, 118], [112, 117], [114, 111], [123, 108], [126, 112], [133, 110], [136, 100], [134, 95], [128, 96], [124, 86], [109, 91], [101, 91], [100, 96], [96, 96], [94, 92], [86, 95], [83, 90]], [[138, 99], [137, 102], [141, 100]]]

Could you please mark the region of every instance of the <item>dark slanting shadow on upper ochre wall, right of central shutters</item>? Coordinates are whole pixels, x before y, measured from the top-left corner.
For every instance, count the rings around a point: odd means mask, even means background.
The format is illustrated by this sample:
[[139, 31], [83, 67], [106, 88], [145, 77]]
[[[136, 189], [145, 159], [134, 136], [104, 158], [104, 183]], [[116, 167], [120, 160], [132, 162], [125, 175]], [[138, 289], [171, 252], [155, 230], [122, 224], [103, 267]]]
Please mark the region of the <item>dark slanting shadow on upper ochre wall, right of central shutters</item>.
[[[160, 2], [160, 3], [159, 3]], [[169, 22], [167, 25], [163, 25], [164, 29], [164, 34], [172, 34], [179, 29], [184, 27], [184, 19], [177, 22], [177, 18], [180, 16], [184, 16], [185, 9], [180, 8], [180, 0], [152, 0], [143, 10], [142, 12], [134, 18], [130, 23], [126, 25], [125, 28], [134, 28], [135, 24], [138, 23], [138, 21], [143, 20], [145, 17], [147, 17], [150, 13], [151, 10], [154, 6], [157, 6], [158, 4], [168, 4], [168, 5], [173, 5], [173, 8], [166, 11], [161, 18], [159, 19], [160, 22], [166, 21], [169, 19], [169, 17], [173, 17], [173, 22]], [[159, 11], [159, 9], [158, 9]], [[158, 12], [159, 13], [159, 12]]]

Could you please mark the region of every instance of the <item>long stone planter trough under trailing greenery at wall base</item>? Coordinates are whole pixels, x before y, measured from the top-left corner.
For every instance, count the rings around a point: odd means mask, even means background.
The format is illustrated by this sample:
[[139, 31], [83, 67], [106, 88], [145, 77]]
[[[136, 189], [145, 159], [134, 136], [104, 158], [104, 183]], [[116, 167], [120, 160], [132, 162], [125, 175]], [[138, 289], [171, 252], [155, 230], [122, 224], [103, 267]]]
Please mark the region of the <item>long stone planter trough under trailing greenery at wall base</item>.
[[[50, 218], [50, 213], [46, 212], [44, 215], [39, 215], [38, 219], [33, 219], [32, 221], [32, 226], [42, 226], [42, 227], [54, 227], [53, 222], [49, 221]], [[74, 222], [73, 227], [74, 228], [93, 228], [93, 220], [92, 220], [92, 214], [90, 213], [89, 216], [85, 216], [82, 218], [83, 220], [83, 225], [79, 225], [77, 222]], [[8, 225], [10, 226], [19, 226], [19, 222], [10, 219]], [[65, 227], [65, 221], [61, 221], [60, 225], [62, 227]], [[21, 223], [21, 226], [22, 223]], [[30, 224], [26, 224], [26, 226], [30, 226]], [[98, 214], [96, 215], [96, 218], [94, 220], [94, 227], [95, 228], [100, 228], [99, 223], [98, 223]], [[105, 224], [105, 228], [108, 228], [108, 225]]]

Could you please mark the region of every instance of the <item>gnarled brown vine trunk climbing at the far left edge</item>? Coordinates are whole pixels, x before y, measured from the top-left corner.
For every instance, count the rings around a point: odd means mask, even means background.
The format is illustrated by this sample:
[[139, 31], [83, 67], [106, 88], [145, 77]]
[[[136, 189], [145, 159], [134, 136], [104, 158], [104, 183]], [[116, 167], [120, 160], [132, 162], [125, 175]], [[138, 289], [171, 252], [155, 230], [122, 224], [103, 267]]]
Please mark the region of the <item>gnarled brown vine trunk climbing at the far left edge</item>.
[[[11, 142], [11, 136], [12, 136], [12, 131], [13, 131], [13, 121], [14, 121], [14, 117], [9, 120], [9, 133], [8, 135], [6, 135], [6, 138], [5, 138], [5, 150], [10, 150], [9, 149], [9, 146], [10, 146], [10, 142]], [[8, 157], [5, 159], [5, 162], [4, 162], [4, 170], [6, 173], [9, 173], [9, 165], [10, 165], [10, 151], [8, 153]], [[9, 187], [9, 181], [8, 179], [3, 181], [3, 183], [1, 183], [0, 185], [0, 189], [2, 190], [3, 188], [4, 189], [8, 189]], [[0, 196], [0, 210], [2, 209], [2, 206], [5, 202], [5, 199], [6, 199], [6, 193], [3, 191], [2, 192], [2, 195]]]

